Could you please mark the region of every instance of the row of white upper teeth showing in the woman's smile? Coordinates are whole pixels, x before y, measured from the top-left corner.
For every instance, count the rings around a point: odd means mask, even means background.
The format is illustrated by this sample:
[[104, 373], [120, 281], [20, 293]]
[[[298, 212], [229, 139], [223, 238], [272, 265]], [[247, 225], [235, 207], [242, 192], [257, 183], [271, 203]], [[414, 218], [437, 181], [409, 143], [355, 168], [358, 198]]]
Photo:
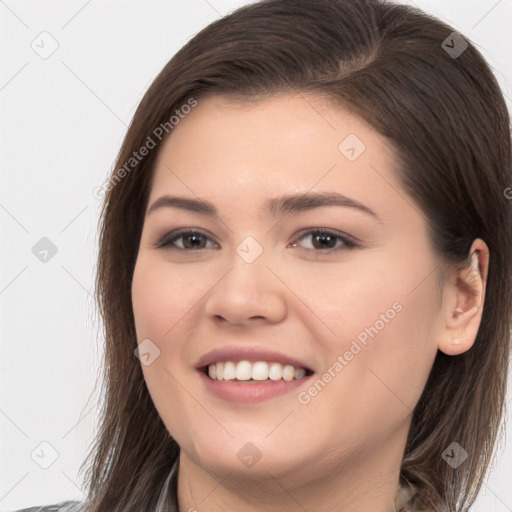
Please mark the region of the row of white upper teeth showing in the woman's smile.
[[208, 366], [208, 375], [213, 380], [264, 381], [302, 379], [306, 375], [304, 368], [291, 364], [267, 363], [266, 361], [222, 361]]

